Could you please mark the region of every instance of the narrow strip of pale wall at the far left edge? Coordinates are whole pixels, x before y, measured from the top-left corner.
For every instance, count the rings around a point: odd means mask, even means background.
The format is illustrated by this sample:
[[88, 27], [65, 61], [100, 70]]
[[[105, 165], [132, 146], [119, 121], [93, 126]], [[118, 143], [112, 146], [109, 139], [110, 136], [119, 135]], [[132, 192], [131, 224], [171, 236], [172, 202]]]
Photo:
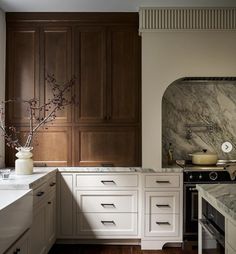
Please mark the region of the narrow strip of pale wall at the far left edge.
[[[6, 52], [5, 14], [0, 9], [0, 102], [5, 98], [5, 52]], [[4, 140], [0, 133], [0, 168], [4, 166]]]

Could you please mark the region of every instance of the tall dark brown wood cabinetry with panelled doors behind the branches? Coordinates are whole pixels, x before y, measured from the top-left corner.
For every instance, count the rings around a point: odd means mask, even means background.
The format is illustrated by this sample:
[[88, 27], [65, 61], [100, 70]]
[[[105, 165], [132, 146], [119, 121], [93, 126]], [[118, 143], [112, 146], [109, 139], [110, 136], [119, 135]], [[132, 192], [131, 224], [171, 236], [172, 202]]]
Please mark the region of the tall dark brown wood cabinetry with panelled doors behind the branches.
[[[7, 14], [9, 99], [50, 98], [45, 77], [76, 77], [78, 105], [38, 134], [34, 161], [53, 166], [141, 165], [141, 45], [137, 13]], [[26, 133], [26, 108], [7, 121]], [[42, 112], [46, 114], [46, 112]], [[7, 152], [7, 164], [14, 161]]]

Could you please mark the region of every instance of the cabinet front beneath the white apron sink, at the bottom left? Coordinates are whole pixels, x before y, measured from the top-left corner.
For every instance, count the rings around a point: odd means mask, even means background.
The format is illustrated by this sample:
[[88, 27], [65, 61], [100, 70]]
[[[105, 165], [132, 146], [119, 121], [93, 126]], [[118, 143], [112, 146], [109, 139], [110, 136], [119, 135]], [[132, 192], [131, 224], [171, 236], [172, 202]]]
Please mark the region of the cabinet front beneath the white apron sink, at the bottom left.
[[5, 254], [32, 254], [29, 250], [29, 230]]

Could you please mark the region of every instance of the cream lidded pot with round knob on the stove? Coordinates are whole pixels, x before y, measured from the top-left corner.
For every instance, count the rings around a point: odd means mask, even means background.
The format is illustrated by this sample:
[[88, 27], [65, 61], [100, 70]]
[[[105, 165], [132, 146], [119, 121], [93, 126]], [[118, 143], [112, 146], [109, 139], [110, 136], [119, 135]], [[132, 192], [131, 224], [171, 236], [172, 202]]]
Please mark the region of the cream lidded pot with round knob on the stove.
[[215, 165], [218, 160], [217, 154], [208, 152], [207, 149], [189, 155], [192, 157], [192, 163], [196, 165]]

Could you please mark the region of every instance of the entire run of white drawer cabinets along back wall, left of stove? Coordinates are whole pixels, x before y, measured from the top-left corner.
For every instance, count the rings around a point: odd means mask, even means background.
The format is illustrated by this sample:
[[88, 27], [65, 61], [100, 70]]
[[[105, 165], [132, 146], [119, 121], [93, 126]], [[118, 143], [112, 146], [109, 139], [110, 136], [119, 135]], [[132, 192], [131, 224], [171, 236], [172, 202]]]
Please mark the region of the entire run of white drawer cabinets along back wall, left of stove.
[[61, 172], [57, 191], [60, 240], [182, 242], [182, 173]]

